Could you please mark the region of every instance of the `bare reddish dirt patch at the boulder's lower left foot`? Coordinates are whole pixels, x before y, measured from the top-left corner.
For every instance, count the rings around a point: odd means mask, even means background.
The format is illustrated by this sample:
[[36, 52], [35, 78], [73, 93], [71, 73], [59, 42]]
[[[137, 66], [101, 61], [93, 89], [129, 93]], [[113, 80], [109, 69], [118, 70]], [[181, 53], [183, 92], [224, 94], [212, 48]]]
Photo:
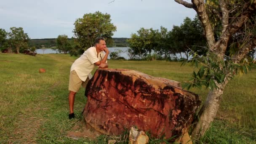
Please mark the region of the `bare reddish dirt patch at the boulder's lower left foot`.
[[96, 137], [100, 136], [101, 134], [102, 133], [92, 128], [91, 125], [86, 124], [85, 120], [82, 120], [72, 128], [72, 130], [68, 133], [67, 137], [72, 139], [96, 139]]

